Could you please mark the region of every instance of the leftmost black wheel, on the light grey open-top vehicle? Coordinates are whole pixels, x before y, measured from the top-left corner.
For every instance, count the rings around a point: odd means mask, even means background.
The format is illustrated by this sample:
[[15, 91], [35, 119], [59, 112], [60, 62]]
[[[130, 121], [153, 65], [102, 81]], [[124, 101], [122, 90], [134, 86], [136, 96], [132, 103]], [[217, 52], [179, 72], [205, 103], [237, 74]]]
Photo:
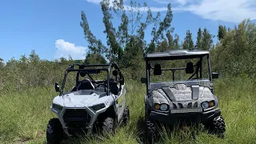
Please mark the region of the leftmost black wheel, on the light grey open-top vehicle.
[[48, 144], [58, 144], [63, 137], [62, 124], [58, 118], [50, 119], [46, 130], [46, 141]]

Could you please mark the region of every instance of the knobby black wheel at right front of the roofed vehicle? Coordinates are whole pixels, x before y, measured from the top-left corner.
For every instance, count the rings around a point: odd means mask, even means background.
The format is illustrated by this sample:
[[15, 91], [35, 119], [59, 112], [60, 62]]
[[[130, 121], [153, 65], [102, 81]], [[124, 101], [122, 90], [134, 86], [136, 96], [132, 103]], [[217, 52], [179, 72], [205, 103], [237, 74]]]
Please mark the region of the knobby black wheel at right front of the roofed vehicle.
[[214, 118], [212, 122], [206, 123], [205, 126], [211, 134], [217, 134], [218, 138], [224, 138], [226, 128], [224, 118], [221, 115]]

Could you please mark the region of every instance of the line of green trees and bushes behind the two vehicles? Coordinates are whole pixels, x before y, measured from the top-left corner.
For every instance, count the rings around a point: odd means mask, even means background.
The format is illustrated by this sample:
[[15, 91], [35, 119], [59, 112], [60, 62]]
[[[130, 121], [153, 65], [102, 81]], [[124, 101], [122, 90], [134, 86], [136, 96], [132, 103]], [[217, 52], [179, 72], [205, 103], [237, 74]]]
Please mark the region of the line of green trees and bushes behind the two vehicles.
[[[194, 34], [194, 42], [190, 30], [186, 30], [185, 38], [174, 34], [170, 4], [163, 19], [160, 12], [152, 14], [146, 2], [141, 5], [131, 1], [129, 6], [125, 6], [122, 0], [113, 3], [103, 0], [101, 7], [106, 45], [90, 30], [86, 14], [82, 11], [80, 26], [89, 47], [86, 59], [48, 61], [40, 59], [34, 50], [28, 58], [22, 55], [20, 59], [12, 58], [6, 64], [0, 58], [0, 90], [22, 90], [27, 86], [49, 86], [61, 82], [66, 67], [74, 62], [116, 62], [126, 79], [138, 79], [145, 75], [144, 53], [178, 49], [210, 50], [212, 70], [219, 72], [222, 77], [246, 75], [256, 78], [256, 26], [250, 19], [242, 21], [234, 29], [218, 26], [217, 36], [199, 27], [198, 33]], [[117, 27], [113, 25], [114, 18], [119, 20]], [[150, 26], [153, 27], [150, 30], [151, 40], [146, 42], [145, 30]], [[214, 37], [218, 38], [215, 44]]]

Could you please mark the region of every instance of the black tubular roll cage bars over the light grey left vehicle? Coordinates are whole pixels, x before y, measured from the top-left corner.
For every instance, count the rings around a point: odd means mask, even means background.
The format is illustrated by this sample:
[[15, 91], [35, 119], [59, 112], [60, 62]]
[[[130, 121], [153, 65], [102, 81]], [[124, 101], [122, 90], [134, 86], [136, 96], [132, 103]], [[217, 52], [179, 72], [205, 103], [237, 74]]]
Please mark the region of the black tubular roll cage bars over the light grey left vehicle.
[[[79, 69], [74, 69], [74, 66], [79, 66]], [[84, 69], [86, 67], [103, 67], [106, 66], [106, 68], [101, 68], [101, 69]], [[83, 67], [83, 69], [80, 69], [80, 67]], [[124, 84], [124, 77], [122, 75], [121, 70], [119, 69], [118, 65], [114, 62], [111, 62], [109, 64], [91, 64], [91, 65], [86, 65], [86, 64], [79, 64], [79, 63], [74, 63], [68, 66], [68, 68], [66, 69], [66, 72], [64, 74], [64, 78], [62, 81], [62, 89], [60, 90], [60, 94], [59, 96], [62, 96], [63, 94], [63, 90], [64, 90], [64, 86], [66, 83], [66, 76], [70, 71], [89, 71], [89, 70], [100, 70], [100, 71], [107, 71], [107, 91], [106, 94], [109, 95], [110, 94], [110, 70], [111, 68], [113, 68], [115, 70], [118, 70], [118, 74], [120, 76], [120, 83], [123, 85]], [[89, 75], [89, 74], [88, 74]]]

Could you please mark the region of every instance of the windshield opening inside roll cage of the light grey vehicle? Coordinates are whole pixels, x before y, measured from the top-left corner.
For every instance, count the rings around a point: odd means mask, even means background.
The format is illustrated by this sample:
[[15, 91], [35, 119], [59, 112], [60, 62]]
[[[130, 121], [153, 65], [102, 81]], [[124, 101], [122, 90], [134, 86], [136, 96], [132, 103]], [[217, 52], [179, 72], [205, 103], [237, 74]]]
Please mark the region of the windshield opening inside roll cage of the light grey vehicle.
[[97, 87], [100, 83], [104, 84], [106, 82], [107, 70], [98, 70], [97, 73], [95, 72], [95, 74], [89, 74], [86, 71], [69, 71], [66, 74], [66, 82], [62, 92], [66, 94], [70, 91], [76, 91], [80, 89], [92, 90], [93, 88]]

